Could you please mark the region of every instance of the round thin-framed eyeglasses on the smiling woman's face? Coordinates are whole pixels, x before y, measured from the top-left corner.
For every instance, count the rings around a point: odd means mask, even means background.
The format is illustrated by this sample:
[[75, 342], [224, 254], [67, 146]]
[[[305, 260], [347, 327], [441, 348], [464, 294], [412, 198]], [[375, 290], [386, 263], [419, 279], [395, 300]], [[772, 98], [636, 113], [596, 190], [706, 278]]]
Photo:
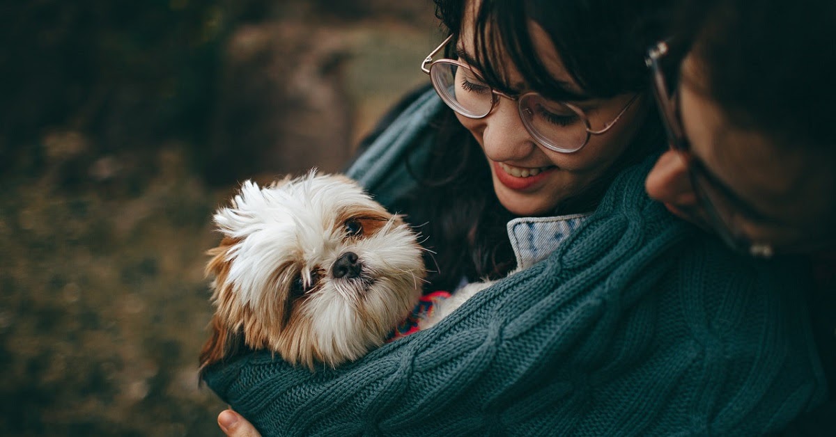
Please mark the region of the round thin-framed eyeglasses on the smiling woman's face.
[[602, 135], [612, 129], [622, 115], [635, 102], [639, 94], [633, 96], [615, 119], [601, 130], [593, 130], [584, 111], [567, 103], [544, 98], [538, 93], [525, 93], [512, 96], [493, 89], [481, 75], [469, 65], [456, 59], [437, 59], [433, 56], [440, 52], [453, 35], [447, 37], [421, 63], [421, 70], [430, 75], [433, 88], [441, 100], [451, 109], [468, 119], [483, 119], [491, 114], [500, 97], [517, 100], [517, 110], [528, 133], [540, 145], [548, 150], [560, 153], [573, 153], [589, 143], [591, 135]]

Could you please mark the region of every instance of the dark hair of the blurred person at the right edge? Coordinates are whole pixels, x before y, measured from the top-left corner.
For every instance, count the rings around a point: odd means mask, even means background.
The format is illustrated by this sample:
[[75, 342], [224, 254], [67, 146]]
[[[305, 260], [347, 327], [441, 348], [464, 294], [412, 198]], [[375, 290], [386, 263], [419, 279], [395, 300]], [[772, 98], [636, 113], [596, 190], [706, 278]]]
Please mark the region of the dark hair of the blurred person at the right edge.
[[[675, 38], [729, 122], [774, 144], [834, 149], [836, 3], [686, 0]], [[681, 50], [684, 52], [684, 50]]]

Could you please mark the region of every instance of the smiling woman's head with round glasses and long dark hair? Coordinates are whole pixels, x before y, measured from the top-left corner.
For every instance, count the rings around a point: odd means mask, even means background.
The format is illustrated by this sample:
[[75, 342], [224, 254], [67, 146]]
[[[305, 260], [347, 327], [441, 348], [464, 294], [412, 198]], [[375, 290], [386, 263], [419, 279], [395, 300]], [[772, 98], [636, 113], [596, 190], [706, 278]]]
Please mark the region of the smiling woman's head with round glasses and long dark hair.
[[[410, 221], [421, 226], [421, 234], [428, 238], [426, 246], [436, 252], [427, 264], [439, 266], [429, 278], [432, 287], [452, 290], [461, 282], [504, 277], [515, 267], [508, 221], [589, 213], [619, 170], [661, 150], [664, 133], [637, 55], [659, 34], [654, 16], [666, 0], [607, 4], [606, 18], [594, 17], [604, 3], [580, 8], [571, 2], [534, 2], [528, 4], [533, 8], [528, 12], [522, 3], [487, 3], [484, 10], [496, 8], [494, 16], [504, 20], [497, 25], [506, 30], [498, 33], [491, 28], [475, 33], [476, 23], [463, 23], [473, 15], [464, 14], [463, 2], [436, 3], [446, 27], [464, 32], [461, 36], [455, 32], [428, 59], [445, 54], [444, 58], [470, 65], [480, 79], [444, 60], [421, 65], [454, 110], [441, 111], [433, 120], [439, 129], [428, 158], [421, 155], [420, 141], [412, 144], [419, 150], [407, 156], [409, 175], [398, 180], [412, 180], [418, 188], [397, 201], [378, 198], [392, 209], [406, 211]], [[528, 35], [526, 14], [550, 17], [542, 26], [533, 23], [532, 41], [488, 40], [498, 34]], [[585, 22], [578, 19], [584, 17]], [[584, 43], [554, 47], [555, 42], [572, 38]], [[473, 47], [477, 42], [478, 49]], [[506, 56], [491, 48], [499, 43], [534, 44], [548, 47], [551, 53], [535, 53], [532, 58], [533, 49], [521, 47]], [[609, 51], [608, 57], [592, 54], [604, 51]], [[539, 59], [543, 65], [531, 62]], [[456, 89], [457, 100], [449, 92], [452, 69], [461, 76], [456, 78], [459, 84], [467, 87]], [[543, 95], [528, 94], [533, 90], [542, 90]], [[366, 158], [385, 168], [374, 153]], [[357, 169], [364, 164], [361, 157], [353, 171], [364, 174]], [[368, 188], [393, 191], [376, 185]]]

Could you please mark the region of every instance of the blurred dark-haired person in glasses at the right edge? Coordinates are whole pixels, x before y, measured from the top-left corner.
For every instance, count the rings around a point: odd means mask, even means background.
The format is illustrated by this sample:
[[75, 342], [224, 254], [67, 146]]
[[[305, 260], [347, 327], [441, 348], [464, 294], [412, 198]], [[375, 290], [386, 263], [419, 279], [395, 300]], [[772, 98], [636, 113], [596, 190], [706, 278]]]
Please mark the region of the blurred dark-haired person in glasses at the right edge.
[[670, 151], [646, 180], [677, 216], [756, 257], [806, 253], [828, 402], [788, 434], [836, 435], [836, 3], [684, 0], [647, 57]]

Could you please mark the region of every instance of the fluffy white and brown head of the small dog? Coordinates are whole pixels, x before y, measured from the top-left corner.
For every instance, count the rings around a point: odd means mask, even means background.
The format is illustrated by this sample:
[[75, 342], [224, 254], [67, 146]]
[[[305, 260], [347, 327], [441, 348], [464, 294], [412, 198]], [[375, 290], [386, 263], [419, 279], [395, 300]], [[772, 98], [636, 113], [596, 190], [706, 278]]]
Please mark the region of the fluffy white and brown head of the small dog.
[[217, 311], [201, 368], [243, 344], [336, 366], [384, 343], [421, 294], [415, 234], [344, 176], [247, 181], [214, 220]]

